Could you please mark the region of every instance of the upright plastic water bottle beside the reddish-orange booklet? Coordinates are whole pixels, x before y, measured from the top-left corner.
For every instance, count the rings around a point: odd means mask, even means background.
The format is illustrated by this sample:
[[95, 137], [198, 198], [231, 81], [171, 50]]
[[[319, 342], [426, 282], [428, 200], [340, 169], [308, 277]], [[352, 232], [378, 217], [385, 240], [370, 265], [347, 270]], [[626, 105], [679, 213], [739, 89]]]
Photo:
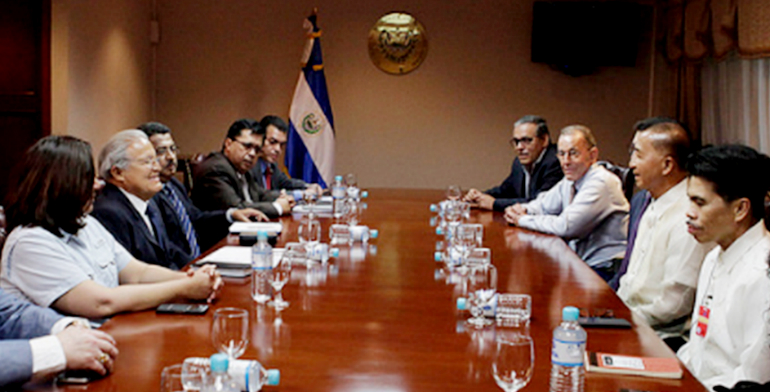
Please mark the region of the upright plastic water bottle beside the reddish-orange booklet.
[[553, 330], [551, 346], [551, 392], [583, 392], [586, 331], [578, 324], [580, 311], [562, 309], [562, 322]]

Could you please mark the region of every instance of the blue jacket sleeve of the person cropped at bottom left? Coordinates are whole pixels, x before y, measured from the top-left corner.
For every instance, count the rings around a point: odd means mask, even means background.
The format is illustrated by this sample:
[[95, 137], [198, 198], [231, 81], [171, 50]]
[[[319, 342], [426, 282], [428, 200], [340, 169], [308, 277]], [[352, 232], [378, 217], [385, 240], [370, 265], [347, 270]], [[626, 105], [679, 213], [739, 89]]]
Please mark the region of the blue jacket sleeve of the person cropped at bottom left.
[[61, 317], [0, 289], [0, 387], [32, 377], [29, 339], [49, 335]]

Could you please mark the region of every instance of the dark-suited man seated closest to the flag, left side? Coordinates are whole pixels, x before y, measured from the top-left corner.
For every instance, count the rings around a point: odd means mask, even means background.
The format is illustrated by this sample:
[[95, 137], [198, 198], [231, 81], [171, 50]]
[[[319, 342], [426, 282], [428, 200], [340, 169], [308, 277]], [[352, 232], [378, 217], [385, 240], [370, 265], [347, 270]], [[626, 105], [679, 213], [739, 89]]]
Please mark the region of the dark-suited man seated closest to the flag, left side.
[[298, 178], [290, 178], [278, 168], [278, 159], [286, 147], [289, 126], [278, 116], [267, 115], [259, 122], [260, 133], [264, 135], [262, 152], [257, 164], [251, 169], [251, 176], [257, 185], [267, 190], [292, 190], [294, 199], [302, 197], [302, 191], [308, 190], [320, 195], [323, 189], [318, 184], [308, 184]]

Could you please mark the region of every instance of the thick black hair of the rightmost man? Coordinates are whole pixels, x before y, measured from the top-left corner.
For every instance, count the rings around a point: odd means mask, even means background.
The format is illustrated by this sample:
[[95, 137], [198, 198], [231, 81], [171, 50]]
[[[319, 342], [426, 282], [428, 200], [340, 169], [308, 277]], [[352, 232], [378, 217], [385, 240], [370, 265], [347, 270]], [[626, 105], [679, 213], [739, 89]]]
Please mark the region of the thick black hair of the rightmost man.
[[691, 177], [712, 183], [714, 192], [725, 201], [749, 199], [754, 219], [764, 216], [765, 195], [770, 189], [767, 155], [738, 144], [707, 147], [690, 155], [687, 171]]

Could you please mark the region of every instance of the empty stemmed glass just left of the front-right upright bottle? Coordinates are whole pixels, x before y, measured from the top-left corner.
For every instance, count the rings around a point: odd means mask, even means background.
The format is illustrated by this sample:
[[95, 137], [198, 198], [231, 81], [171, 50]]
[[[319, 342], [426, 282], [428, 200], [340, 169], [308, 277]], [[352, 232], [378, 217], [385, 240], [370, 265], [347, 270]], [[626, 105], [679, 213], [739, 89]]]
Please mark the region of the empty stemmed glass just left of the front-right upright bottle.
[[495, 382], [506, 392], [524, 388], [535, 369], [535, 348], [532, 338], [515, 334], [497, 339], [497, 352], [492, 362]]

